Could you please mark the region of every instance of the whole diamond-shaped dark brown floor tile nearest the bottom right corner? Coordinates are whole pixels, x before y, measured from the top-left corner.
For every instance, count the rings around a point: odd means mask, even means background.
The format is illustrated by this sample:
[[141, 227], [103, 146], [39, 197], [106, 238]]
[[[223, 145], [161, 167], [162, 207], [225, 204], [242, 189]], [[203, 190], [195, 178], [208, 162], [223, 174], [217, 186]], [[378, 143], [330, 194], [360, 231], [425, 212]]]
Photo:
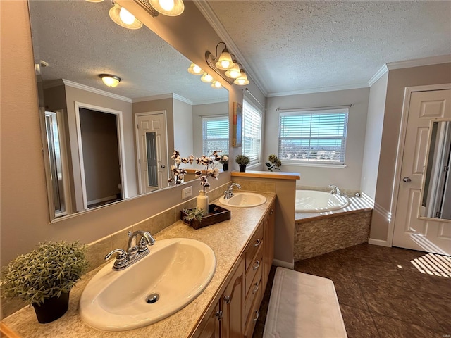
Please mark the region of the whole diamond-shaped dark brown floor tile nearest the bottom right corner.
[[359, 280], [371, 313], [441, 330], [437, 320], [412, 290], [375, 280]]

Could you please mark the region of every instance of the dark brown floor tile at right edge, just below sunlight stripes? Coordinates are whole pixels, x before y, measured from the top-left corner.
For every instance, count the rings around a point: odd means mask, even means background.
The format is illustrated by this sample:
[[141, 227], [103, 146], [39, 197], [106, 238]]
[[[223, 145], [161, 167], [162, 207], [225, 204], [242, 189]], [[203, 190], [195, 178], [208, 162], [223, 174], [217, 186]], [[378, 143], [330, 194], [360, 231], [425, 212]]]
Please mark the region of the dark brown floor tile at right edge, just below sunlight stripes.
[[428, 294], [448, 295], [451, 292], [451, 278], [421, 273], [419, 270], [400, 271], [404, 280], [413, 290]]

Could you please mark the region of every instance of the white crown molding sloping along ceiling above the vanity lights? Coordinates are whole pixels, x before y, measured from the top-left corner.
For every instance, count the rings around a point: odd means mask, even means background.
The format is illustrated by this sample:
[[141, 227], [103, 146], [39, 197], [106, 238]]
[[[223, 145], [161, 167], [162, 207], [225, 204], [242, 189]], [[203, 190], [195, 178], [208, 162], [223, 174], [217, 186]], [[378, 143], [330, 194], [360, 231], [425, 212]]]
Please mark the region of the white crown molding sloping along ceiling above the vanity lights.
[[223, 42], [227, 44], [230, 53], [234, 54], [237, 57], [238, 61], [243, 65], [247, 77], [250, 77], [252, 81], [257, 85], [260, 92], [263, 93], [264, 96], [266, 96], [268, 94], [268, 91], [266, 90], [263, 82], [260, 80], [261, 77], [257, 76], [257, 72], [254, 70], [252, 65], [247, 62], [245, 56], [242, 54], [235, 42], [233, 42], [233, 39], [230, 37], [226, 28], [224, 28], [223, 24], [219, 20], [216, 13], [214, 13], [208, 2], [204, 0], [194, 0], [193, 2], [202, 13], [202, 15], [204, 15], [204, 18], [206, 18], [211, 27], [213, 27], [216, 34], [222, 39]]

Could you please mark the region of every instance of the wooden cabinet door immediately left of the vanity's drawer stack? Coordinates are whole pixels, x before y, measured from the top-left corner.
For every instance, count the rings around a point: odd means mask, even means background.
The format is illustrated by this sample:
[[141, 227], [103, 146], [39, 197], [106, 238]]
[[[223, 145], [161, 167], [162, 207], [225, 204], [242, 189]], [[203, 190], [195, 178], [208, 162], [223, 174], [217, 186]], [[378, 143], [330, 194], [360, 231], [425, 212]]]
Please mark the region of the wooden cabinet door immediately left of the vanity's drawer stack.
[[245, 262], [241, 260], [237, 270], [223, 292], [221, 308], [223, 318], [221, 320], [221, 338], [241, 338], [245, 330], [244, 321], [244, 285]]

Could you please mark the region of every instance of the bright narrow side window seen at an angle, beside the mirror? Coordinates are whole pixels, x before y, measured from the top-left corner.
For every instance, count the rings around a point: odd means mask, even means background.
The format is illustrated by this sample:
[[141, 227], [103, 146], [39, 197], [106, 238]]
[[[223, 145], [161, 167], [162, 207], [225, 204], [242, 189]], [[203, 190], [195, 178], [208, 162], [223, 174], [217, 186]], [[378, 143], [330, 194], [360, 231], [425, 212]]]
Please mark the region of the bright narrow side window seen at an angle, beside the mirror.
[[[249, 117], [249, 113], [258, 115], [258, 118], [259, 118], [259, 125], [258, 125], [258, 132], [257, 132], [258, 135], [257, 134], [254, 134], [254, 135], [246, 134], [246, 132], [249, 129], [252, 130], [253, 127], [256, 127], [256, 125], [253, 123], [254, 122], [253, 118]], [[247, 123], [249, 123], [249, 120], [252, 121], [251, 122], [252, 127], [247, 127]], [[249, 99], [244, 97], [243, 103], [242, 103], [242, 148], [241, 148], [241, 154], [249, 156], [251, 161], [248, 164], [248, 166], [261, 163], [261, 133], [262, 133], [262, 129], [263, 129], [263, 113], [261, 111], [261, 108], [258, 108]], [[247, 149], [247, 146], [245, 146], [246, 139], [251, 139], [251, 140], [258, 142], [257, 146], [255, 146], [255, 145], [250, 146], [251, 149], [254, 148], [255, 153], [254, 153], [254, 151], [249, 151], [249, 149]], [[251, 144], [252, 144], [252, 141], [251, 141]], [[257, 150], [257, 148], [258, 148], [258, 150]]]

